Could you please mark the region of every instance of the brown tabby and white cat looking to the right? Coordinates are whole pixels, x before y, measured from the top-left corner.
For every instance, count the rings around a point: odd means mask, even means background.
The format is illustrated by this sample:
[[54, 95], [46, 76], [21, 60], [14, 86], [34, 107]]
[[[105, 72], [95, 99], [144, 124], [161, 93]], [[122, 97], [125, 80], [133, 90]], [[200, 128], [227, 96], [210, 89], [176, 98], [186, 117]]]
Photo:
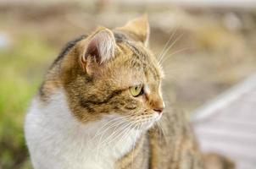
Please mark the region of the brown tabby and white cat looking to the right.
[[142, 16], [64, 48], [25, 118], [34, 168], [203, 168], [186, 117], [164, 105], [148, 38]]

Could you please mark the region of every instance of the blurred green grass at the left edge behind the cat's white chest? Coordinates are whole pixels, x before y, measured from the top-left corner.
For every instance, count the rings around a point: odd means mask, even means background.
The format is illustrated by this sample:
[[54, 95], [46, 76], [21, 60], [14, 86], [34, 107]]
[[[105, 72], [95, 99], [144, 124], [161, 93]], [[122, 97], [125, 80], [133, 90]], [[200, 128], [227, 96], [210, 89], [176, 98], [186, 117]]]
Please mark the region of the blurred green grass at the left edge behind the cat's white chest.
[[29, 34], [16, 36], [14, 46], [0, 51], [0, 166], [4, 168], [15, 168], [28, 158], [25, 112], [54, 54], [42, 38]]

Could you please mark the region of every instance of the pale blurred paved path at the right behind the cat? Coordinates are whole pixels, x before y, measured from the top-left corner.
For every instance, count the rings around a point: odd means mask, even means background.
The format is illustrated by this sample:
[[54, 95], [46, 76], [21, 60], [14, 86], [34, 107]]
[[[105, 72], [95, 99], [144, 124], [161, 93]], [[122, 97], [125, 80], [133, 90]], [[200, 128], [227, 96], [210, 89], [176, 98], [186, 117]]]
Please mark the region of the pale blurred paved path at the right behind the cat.
[[204, 152], [229, 156], [237, 169], [256, 169], [256, 74], [195, 115], [193, 127]]

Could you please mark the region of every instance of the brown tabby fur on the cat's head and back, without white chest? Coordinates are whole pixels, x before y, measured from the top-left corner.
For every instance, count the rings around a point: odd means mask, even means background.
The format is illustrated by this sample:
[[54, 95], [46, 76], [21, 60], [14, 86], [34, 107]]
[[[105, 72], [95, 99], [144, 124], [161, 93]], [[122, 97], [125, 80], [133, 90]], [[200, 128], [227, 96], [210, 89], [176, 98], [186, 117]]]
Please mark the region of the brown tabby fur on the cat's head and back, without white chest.
[[[114, 38], [114, 53], [101, 63], [94, 57], [92, 41], [99, 33]], [[163, 108], [159, 90], [163, 73], [147, 49], [149, 27], [144, 16], [115, 30], [100, 28], [71, 43], [55, 60], [42, 84], [40, 97], [47, 104], [50, 95], [63, 88], [71, 112], [81, 123], [93, 122], [117, 112], [144, 119], [153, 109]], [[89, 51], [89, 52], [88, 52]], [[150, 86], [150, 95], [133, 97], [131, 86]], [[116, 168], [175, 169], [203, 168], [191, 128], [182, 113], [164, 111], [162, 128], [155, 126], [137, 141], [135, 150], [116, 162]]]

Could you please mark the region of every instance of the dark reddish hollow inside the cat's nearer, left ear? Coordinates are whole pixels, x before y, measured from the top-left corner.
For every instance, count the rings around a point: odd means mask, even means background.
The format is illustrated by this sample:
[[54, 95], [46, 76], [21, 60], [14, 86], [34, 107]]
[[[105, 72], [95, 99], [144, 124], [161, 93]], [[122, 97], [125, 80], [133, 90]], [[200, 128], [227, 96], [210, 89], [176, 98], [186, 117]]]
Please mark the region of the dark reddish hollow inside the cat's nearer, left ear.
[[87, 46], [85, 58], [89, 56], [95, 57], [97, 63], [101, 62], [101, 56], [98, 51], [98, 44], [96, 39], [93, 39], [92, 41], [90, 41], [89, 45]]

